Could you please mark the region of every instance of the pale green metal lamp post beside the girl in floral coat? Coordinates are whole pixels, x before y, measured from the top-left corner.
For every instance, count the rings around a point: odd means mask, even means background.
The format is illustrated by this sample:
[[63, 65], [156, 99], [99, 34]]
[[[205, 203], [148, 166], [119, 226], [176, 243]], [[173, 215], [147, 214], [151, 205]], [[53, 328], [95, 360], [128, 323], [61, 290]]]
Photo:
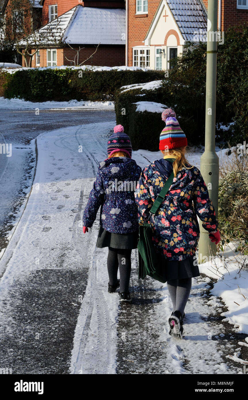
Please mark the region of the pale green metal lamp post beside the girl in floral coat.
[[[215, 118], [216, 118], [216, 72], [217, 72], [217, 18], [218, 0], [208, 0], [208, 36], [206, 59], [206, 117], [205, 117], [205, 151], [200, 158], [200, 172], [207, 185], [209, 197], [218, 217], [218, 184], [219, 158], [215, 152]], [[200, 222], [200, 240], [198, 262], [208, 260], [216, 254], [216, 244], [208, 237], [208, 232]]]

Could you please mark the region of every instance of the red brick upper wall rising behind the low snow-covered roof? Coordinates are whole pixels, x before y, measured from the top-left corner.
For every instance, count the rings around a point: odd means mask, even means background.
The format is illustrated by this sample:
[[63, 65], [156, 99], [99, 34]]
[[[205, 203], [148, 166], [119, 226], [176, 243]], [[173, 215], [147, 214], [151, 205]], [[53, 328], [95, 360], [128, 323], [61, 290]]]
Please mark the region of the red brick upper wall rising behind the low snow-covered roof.
[[108, 1], [86, 1], [83, 0], [44, 0], [43, 3], [43, 25], [46, 25], [49, 22], [49, 6], [53, 4], [58, 4], [58, 16], [64, 14], [69, 11], [71, 8], [78, 6], [81, 4], [85, 7], [111, 7], [111, 8], [124, 8], [124, 1], [116, 1], [116, 2], [108, 2]]

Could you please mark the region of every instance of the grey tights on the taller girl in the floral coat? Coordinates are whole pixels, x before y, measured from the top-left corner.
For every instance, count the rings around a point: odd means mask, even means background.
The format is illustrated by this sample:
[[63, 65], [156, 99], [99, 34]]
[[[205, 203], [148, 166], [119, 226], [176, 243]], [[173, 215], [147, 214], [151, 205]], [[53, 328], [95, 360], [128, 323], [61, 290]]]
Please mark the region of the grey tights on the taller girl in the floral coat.
[[171, 279], [167, 281], [173, 311], [179, 310], [183, 315], [190, 294], [192, 278]]

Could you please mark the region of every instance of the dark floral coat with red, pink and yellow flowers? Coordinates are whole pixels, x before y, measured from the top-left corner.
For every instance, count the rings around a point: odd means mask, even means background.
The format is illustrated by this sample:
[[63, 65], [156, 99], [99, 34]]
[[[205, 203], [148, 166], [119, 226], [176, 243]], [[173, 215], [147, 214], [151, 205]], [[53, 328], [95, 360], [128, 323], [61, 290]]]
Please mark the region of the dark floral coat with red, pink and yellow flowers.
[[178, 172], [159, 210], [147, 221], [149, 210], [172, 170], [172, 163], [166, 159], [146, 166], [137, 185], [135, 201], [139, 224], [151, 223], [157, 251], [167, 260], [185, 260], [195, 253], [200, 237], [196, 215], [209, 233], [217, 231], [218, 221], [206, 184], [195, 166]]

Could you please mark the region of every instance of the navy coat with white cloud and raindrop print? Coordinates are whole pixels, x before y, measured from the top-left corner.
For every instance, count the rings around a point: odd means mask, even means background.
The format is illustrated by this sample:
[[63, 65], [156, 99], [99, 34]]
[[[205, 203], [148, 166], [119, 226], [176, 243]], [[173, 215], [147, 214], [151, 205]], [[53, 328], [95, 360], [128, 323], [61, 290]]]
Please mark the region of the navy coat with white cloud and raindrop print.
[[100, 210], [100, 225], [111, 233], [136, 232], [138, 206], [134, 192], [141, 167], [128, 157], [111, 157], [100, 162], [93, 189], [83, 212], [83, 226], [91, 228]]

